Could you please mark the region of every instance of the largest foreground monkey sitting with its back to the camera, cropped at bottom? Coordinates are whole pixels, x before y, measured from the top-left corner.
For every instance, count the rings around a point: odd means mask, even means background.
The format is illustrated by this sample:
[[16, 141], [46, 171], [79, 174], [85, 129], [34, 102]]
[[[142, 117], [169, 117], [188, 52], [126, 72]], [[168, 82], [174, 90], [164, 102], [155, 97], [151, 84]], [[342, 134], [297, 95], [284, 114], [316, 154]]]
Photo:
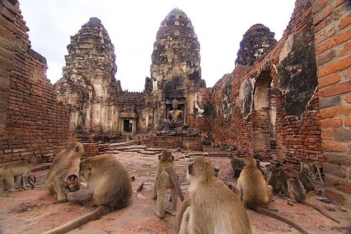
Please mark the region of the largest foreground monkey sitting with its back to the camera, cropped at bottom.
[[197, 157], [188, 165], [186, 178], [190, 182], [188, 196], [176, 217], [179, 234], [251, 233], [244, 206], [214, 175], [206, 157]]

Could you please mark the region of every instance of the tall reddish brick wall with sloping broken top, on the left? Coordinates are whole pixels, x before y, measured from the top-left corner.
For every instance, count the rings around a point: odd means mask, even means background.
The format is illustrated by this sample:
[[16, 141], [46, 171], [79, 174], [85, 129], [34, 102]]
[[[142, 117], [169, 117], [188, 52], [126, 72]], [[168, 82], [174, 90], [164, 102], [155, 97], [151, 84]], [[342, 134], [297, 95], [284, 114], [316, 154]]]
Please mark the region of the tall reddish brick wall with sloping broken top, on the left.
[[31, 155], [52, 161], [67, 143], [68, 110], [57, 104], [46, 59], [30, 48], [19, 4], [11, 2], [0, 0], [0, 104], [5, 107], [0, 162]]

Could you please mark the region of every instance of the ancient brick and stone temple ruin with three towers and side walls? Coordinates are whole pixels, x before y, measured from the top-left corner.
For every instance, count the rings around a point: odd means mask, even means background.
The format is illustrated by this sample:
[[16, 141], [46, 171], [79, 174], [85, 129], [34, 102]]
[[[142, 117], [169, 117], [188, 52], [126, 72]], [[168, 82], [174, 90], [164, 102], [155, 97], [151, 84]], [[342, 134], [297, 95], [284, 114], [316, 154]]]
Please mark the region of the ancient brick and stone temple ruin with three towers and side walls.
[[168, 138], [155, 132], [177, 100], [185, 123], [201, 136], [176, 137], [168, 147], [201, 150], [213, 139], [295, 169], [311, 159], [325, 175], [326, 195], [351, 206], [349, 1], [296, 0], [279, 41], [265, 25], [253, 25], [242, 32], [233, 71], [209, 88], [194, 26], [175, 8], [150, 45], [141, 93], [123, 91], [116, 80], [114, 46], [97, 18], [71, 36], [62, 78], [51, 86], [19, 4], [0, 2], [1, 162], [30, 155], [52, 161], [73, 138], [94, 143], [93, 153], [97, 142], [127, 135], [162, 147]]

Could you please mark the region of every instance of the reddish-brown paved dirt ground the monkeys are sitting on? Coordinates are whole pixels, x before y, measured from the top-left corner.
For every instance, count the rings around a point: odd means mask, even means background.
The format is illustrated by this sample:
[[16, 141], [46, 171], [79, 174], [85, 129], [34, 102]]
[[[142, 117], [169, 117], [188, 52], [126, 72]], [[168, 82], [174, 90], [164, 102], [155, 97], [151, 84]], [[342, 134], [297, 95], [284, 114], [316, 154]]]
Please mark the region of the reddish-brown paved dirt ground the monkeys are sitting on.
[[[208, 154], [214, 166], [221, 169], [219, 172], [220, 179], [223, 179], [227, 184], [236, 185], [237, 179], [229, 178], [230, 166], [226, 157], [227, 152], [219, 150], [214, 152], [216, 150], [208, 148], [206, 153], [178, 153], [171, 150], [176, 159], [175, 164], [180, 175], [180, 183], [184, 194], [188, 187], [186, 166], [193, 157], [201, 155]], [[166, 215], [163, 219], [158, 218], [154, 214], [156, 201], [151, 199], [156, 164], [160, 152], [160, 149], [141, 149], [138, 146], [129, 146], [125, 151], [113, 151], [116, 158], [124, 163], [129, 175], [135, 176], [135, 180], [132, 182], [132, 203], [122, 210], [112, 212], [104, 215], [99, 220], [82, 225], [70, 231], [69, 234], [176, 234], [175, 217]], [[38, 165], [37, 167], [41, 166]], [[44, 180], [47, 171], [46, 169], [32, 173], [37, 178], [34, 190], [8, 193], [2, 191], [1, 188], [0, 234], [42, 233], [95, 209], [71, 202], [57, 204], [55, 198], [47, 195], [45, 190]], [[137, 193], [136, 191], [142, 183], [144, 183], [143, 189], [141, 193]], [[309, 199], [309, 202], [328, 210], [327, 212], [338, 218], [341, 223], [338, 224], [303, 204], [293, 204], [291, 206], [286, 200], [277, 196], [273, 198], [269, 208], [278, 210], [277, 214], [300, 224], [310, 234], [340, 234], [346, 232], [351, 220], [349, 209], [345, 209], [338, 204], [327, 204], [315, 198]], [[170, 203], [167, 202], [167, 204], [170, 207]], [[252, 210], [247, 210], [247, 212], [254, 234], [299, 233], [281, 221], [257, 214]]]

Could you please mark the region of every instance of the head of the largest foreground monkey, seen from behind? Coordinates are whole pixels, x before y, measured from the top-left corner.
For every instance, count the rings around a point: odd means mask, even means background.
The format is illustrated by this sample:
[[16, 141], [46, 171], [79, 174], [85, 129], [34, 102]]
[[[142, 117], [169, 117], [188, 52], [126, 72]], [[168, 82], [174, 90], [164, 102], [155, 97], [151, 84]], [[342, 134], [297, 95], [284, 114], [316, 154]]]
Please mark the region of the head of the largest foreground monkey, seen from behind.
[[206, 181], [213, 177], [214, 167], [210, 160], [206, 157], [197, 157], [189, 163], [186, 172], [186, 179], [191, 182], [193, 180]]

